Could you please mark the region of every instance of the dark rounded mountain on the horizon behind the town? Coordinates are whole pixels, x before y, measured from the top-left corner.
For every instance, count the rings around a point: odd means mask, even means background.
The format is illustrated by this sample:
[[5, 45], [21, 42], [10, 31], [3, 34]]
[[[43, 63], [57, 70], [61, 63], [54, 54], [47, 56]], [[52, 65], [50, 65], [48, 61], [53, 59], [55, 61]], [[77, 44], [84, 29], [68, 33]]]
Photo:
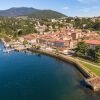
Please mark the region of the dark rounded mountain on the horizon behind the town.
[[10, 8], [7, 10], [0, 10], [0, 16], [29, 16], [34, 18], [61, 18], [66, 17], [64, 14], [53, 10], [39, 10], [28, 7]]

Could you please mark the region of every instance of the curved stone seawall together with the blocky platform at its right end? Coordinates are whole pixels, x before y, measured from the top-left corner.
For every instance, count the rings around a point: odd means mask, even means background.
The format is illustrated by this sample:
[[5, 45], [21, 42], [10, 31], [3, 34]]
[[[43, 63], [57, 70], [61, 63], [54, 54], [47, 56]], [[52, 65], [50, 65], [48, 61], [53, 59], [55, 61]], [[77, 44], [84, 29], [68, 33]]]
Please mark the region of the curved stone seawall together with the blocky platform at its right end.
[[42, 53], [48, 56], [55, 57], [57, 59], [60, 59], [65, 62], [69, 62], [82, 73], [82, 75], [85, 77], [84, 81], [88, 87], [90, 87], [94, 92], [100, 91], [100, 77], [98, 77], [95, 73], [93, 73], [90, 69], [87, 67], [83, 66], [80, 62], [71, 59], [70, 57], [67, 57], [65, 55], [56, 53], [56, 52], [51, 52], [47, 50], [34, 50], [30, 49], [31, 51], [35, 51], [38, 53]]

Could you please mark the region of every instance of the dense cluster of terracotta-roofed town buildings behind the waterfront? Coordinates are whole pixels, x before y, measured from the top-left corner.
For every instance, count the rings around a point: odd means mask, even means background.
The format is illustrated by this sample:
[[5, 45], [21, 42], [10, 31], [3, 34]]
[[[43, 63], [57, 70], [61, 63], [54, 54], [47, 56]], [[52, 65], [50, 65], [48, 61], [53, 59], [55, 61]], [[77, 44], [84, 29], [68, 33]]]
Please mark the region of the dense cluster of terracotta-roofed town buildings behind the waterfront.
[[[41, 28], [41, 30], [43, 29]], [[59, 51], [67, 52], [76, 48], [77, 44], [81, 41], [86, 42], [90, 47], [94, 48], [95, 45], [100, 45], [100, 36], [96, 32], [82, 32], [81, 29], [63, 27], [53, 33], [33, 33], [18, 37], [18, 40], [13, 42], [13, 47], [23, 47], [22, 45], [25, 41], [26, 45], [30, 47], [38, 45], [44, 49], [58, 49]]]

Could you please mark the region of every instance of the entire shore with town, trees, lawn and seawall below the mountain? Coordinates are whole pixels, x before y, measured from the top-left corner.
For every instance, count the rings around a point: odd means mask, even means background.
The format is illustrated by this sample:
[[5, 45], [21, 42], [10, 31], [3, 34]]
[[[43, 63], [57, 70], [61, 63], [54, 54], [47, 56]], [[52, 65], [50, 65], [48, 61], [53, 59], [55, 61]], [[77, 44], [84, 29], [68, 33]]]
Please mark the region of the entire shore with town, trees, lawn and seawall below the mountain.
[[95, 86], [100, 89], [100, 70], [97, 70], [100, 68], [100, 17], [0, 17], [0, 39], [5, 46], [4, 53], [42, 51], [66, 59], [91, 77], [86, 83], [94, 90]]

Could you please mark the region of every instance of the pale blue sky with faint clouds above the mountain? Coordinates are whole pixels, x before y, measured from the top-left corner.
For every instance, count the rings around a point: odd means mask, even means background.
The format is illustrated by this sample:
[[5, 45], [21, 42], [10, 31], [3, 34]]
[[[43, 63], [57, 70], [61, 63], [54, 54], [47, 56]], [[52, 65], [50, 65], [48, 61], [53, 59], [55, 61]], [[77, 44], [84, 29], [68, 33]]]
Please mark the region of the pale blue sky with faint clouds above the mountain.
[[51, 9], [67, 16], [100, 16], [100, 0], [1, 0], [0, 10], [12, 7]]

